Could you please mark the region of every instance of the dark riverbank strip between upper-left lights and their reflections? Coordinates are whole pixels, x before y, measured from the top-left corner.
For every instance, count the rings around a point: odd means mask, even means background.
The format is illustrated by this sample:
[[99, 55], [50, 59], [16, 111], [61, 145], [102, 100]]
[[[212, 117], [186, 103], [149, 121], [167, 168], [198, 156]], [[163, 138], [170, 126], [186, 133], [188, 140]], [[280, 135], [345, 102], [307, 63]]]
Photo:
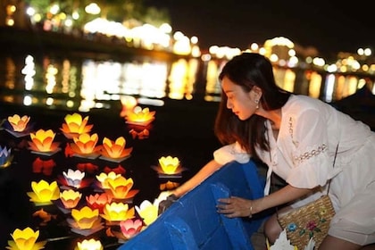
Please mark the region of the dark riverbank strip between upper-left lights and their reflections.
[[3, 52], [39, 53], [59, 51], [65, 54], [81, 55], [96, 54], [100, 59], [119, 59], [123, 56], [151, 56], [162, 60], [188, 58], [187, 55], [173, 54], [162, 49], [147, 50], [131, 46], [124, 39], [106, 37], [101, 34], [71, 34], [44, 31], [43, 29], [14, 29], [0, 27], [0, 46]]

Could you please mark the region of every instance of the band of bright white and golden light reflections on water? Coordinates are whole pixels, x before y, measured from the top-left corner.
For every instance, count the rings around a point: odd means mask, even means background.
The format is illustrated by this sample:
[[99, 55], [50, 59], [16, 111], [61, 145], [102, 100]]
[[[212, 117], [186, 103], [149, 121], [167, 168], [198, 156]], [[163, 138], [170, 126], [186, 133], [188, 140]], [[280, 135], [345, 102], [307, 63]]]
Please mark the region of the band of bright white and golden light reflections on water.
[[[162, 105], [165, 98], [207, 102], [220, 101], [218, 73], [226, 61], [128, 58], [124, 62], [74, 58], [61, 55], [17, 54], [0, 57], [0, 87], [5, 103], [45, 106], [88, 112], [110, 109], [122, 96], [136, 96], [139, 104]], [[1, 79], [2, 78], [2, 79]], [[373, 80], [351, 75], [322, 75], [275, 67], [280, 87], [331, 102]]]

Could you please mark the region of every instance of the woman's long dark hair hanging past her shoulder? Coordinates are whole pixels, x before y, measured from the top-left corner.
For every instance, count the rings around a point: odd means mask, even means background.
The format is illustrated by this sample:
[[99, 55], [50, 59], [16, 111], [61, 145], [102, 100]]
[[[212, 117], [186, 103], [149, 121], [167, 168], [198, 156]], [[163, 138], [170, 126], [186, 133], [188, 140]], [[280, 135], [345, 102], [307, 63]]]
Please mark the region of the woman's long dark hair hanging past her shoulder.
[[[270, 60], [262, 54], [239, 54], [224, 65], [219, 79], [227, 77], [244, 91], [250, 92], [256, 86], [262, 89], [260, 103], [264, 110], [275, 110], [287, 103], [290, 93], [281, 89], [275, 81]], [[249, 154], [255, 158], [254, 146], [269, 150], [266, 134], [265, 118], [252, 115], [246, 121], [241, 121], [227, 108], [227, 96], [221, 93], [221, 104], [216, 116], [214, 132], [222, 144], [237, 141]]]

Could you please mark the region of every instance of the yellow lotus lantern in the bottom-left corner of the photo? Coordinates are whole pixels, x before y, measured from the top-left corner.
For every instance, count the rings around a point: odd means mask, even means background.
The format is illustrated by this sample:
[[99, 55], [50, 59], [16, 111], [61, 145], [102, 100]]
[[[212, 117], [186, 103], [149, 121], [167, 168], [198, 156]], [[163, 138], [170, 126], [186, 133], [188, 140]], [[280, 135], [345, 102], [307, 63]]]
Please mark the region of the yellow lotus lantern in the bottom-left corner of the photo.
[[13, 250], [38, 250], [46, 245], [46, 241], [37, 242], [39, 230], [34, 231], [29, 227], [26, 229], [15, 229], [11, 234], [14, 241], [8, 241], [7, 249]]

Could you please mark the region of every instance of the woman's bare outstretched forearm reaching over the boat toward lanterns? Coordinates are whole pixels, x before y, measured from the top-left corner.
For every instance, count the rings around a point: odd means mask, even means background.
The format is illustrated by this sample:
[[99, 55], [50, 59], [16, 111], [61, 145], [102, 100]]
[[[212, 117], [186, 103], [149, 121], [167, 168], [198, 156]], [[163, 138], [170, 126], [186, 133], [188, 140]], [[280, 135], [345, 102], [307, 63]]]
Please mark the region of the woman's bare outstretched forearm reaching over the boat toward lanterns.
[[193, 189], [194, 187], [198, 186], [204, 179], [211, 176], [214, 171], [218, 171], [221, 169], [223, 165], [212, 160], [207, 162], [204, 167], [196, 173], [191, 179], [188, 179], [184, 184], [177, 187], [174, 190], [171, 190], [171, 194], [180, 197], [185, 195], [188, 191]]

